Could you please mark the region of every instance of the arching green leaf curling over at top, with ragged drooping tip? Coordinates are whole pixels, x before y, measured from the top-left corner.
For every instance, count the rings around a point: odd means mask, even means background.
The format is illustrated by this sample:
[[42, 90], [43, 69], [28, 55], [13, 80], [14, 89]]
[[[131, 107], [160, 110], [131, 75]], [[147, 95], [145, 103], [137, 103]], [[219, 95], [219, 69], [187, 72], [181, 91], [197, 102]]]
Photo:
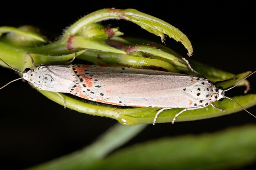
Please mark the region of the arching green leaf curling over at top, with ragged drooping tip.
[[63, 37], [65, 38], [69, 37], [70, 35], [75, 35], [76, 33], [79, 33], [83, 27], [88, 26], [94, 22], [109, 19], [124, 19], [130, 22], [134, 22], [146, 31], [160, 36], [162, 42], [164, 42], [164, 34], [166, 34], [177, 42], [181, 42], [188, 50], [188, 55], [192, 55], [193, 53], [191, 42], [179, 29], [163, 20], [155, 18], [146, 13], [139, 12], [135, 9], [101, 9], [95, 11], [72, 24], [72, 26], [67, 29]]

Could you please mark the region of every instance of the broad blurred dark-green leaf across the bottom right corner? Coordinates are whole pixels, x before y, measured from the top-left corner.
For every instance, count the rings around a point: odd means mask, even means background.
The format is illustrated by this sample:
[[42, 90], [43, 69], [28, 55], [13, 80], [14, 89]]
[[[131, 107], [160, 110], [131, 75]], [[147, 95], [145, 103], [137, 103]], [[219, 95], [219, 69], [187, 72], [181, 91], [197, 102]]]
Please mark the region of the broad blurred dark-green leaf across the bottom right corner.
[[[164, 138], [118, 150], [94, 170], [220, 170], [256, 160], [256, 126]], [[84, 167], [85, 168], [85, 167]]]

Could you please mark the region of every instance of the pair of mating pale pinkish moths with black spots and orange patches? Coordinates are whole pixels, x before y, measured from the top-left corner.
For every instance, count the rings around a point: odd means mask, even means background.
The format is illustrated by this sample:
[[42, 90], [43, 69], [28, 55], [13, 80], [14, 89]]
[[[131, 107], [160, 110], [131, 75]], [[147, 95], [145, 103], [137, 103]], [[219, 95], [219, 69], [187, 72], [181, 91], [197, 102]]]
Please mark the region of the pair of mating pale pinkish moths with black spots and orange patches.
[[[201, 75], [191, 68], [186, 59], [182, 59], [192, 72]], [[32, 63], [34, 64], [33, 59]], [[36, 68], [27, 68], [23, 72], [12, 68], [23, 73], [23, 77], [16, 80], [25, 79], [39, 90], [52, 91], [60, 97], [62, 97], [60, 93], [70, 93], [83, 99], [105, 104], [159, 108], [153, 124], [156, 123], [157, 116], [163, 110], [171, 108], [184, 108], [175, 115], [172, 121], [174, 123], [177, 116], [186, 110], [204, 108], [209, 105], [222, 110], [217, 108], [213, 102], [222, 101], [224, 98], [238, 104], [233, 99], [226, 97], [225, 91], [234, 88], [244, 79], [256, 73], [254, 71], [235, 86], [224, 90], [222, 87], [215, 86], [203, 75], [201, 75], [203, 78], [199, 78], [179, 73], [124, 66], [34, 65]], [[11, 68], [11, 66], [9, 67]], [[63, 101], [65, 107], [64, 98]], [[238, 105], [243, 108], [240, 104]], [[243, 110], [254, 116], [245, 108]]]

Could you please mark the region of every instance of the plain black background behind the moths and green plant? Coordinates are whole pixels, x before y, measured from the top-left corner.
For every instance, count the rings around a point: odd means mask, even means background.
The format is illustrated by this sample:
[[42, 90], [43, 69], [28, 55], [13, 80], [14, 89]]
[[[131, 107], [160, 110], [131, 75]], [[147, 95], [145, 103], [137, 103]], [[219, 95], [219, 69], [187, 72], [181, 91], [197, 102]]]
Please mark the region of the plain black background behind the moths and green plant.
[[[160, 18], [185, 33], [194, 48], [192, 58], [231, 73], [255, 70], [255, 4], [249, 2], [194, 2], [158, 0], [94, 1], [31, 4], [1, 4], [0, 26], [31, 24], [53, 35], [61, 35], [66, 26], [98, 9], [134, 8]], [[126, 36], [160, 38], [127, 21], [106, 24], [120, 26]], [[166, 45], [186, 55], [181, 43], [166, 38]], [[0, 86], [18, 78], [13, 71], [0, 67]], [[256, 93], [255, 76], [249, 78]], [[227, 96], [242, 95], [243, 87], [227, 92]], [[116, 120], [64, 109], [28, 84], [15, 82], [0, 91], [0, 169], [16, 170], [34, 166], [68, 154], [90, 144]], [[256, 109], [249, 109], [256, 113]], [[228, 127], [255, 124], [256, 119], [245, 111], [227, 116], [191, 122], [149, 125], [127, 145], [166, 136], [215, 132]], [[182, 149], [182, 148], [181, 148]], [[247, 168], [252, 168], [248, 166]]]

